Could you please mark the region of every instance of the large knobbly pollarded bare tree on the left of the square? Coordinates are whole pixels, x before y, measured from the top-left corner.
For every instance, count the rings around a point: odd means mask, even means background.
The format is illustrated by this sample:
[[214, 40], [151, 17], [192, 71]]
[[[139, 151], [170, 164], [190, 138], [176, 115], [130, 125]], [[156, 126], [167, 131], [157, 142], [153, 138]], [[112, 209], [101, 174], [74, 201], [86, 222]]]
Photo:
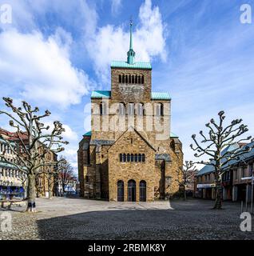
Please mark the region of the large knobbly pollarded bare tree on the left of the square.
[[[26, 210], [35, 211], [36, 176], [43, 167], [57, 164], [55, 160], [46, 159], [46, 154], [49, 152], [58, 153], [64, 150], [62, 145], [68, 144], [68, 142], [63, 141], [61, 136], [65, 129], [62, 127], [62, 123], [58, 121], [54, 122], [51, 131], [50, 126], [44, 126], [41, 120], [50, 116], [49, 110], [46, 110], [45, 114], [38, 115], [38, 107], [33, 109], [27, 102], [22, 102], [22, 107], [16, 107], [11, 98], [3, 98], [3, 100], [11, 112], [0, 110], [0, 114], [8, 116], [10, 126], [16, 129], [13, 136], [15, 146], [6, 140], [10, 151], [17, 158], [16, 162], [10, 162], [10, 164], [26, 174], [28, 199]], [[1, 156], [6, 162], [9, 162], [5, 157], [5, 152]]]

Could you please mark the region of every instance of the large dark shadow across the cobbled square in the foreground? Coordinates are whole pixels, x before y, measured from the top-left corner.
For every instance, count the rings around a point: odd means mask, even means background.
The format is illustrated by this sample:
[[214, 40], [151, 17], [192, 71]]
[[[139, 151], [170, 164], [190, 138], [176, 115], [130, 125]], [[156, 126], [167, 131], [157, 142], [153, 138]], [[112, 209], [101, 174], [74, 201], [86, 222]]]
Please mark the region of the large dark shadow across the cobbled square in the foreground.
[[253, 238], [240, 231], [236, 210], [209, 210], [209, 203], [206, 209], [173, 201], [175, 210], [97, 210], [39, 219], [37, 226], [39, 237], [50, 240]]

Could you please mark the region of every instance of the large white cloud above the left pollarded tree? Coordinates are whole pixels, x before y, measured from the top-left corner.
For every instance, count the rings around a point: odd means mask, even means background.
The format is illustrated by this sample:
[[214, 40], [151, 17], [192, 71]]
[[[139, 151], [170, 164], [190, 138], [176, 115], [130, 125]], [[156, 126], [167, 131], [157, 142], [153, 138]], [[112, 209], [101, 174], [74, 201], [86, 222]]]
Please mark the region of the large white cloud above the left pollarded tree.
[[[43, 38], [34, 31], [21, 34], [6, 30], [0, 34], [0, 85], [20, 92], [40, 105], [66, 107], [81, 102], [89, 78], [69, 60], [71, 36], [59, 29]], [[4, 90], [3, 90], [4, 91]]]

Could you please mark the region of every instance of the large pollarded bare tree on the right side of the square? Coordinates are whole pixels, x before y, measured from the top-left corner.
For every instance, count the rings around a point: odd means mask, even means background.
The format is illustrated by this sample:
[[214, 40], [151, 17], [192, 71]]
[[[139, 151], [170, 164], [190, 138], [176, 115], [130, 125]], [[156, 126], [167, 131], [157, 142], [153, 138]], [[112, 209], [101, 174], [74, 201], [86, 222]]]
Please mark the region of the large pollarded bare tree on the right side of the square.
[[[196, 134], [192, 135], [194, 146], [191, 144], [192, 150], [197, 153], [194, 154], [196, 158], [203, 155], [209, 157], [208, 162], [200, 161], [196, 163], [213, 166], [216, 182], [216, 199], [214, 209], [221, 209], [222, 207], [222, 185], [221, 176], [223, 169], [230, 161], [239, 159], [240, 155], [247, 153], [250, 148], [248, 146], [240, 147], [238, 149], [230, 149], [233, 143], [247, 141], [252, 137], [239, 138], [242, 134], [248, 131], [248, 126], [242, 124], [242, 119], [235, 119], [228, 126], [224, 126], [224, 111], [220, 111], [219, 122], [216, 123], [212, 118], [205, 126], [208, 127], [208, 135], [204, 135], [200, 130], [202, 140], [197, 142]], [[228, 147], [228, 150], [224, 150]]]

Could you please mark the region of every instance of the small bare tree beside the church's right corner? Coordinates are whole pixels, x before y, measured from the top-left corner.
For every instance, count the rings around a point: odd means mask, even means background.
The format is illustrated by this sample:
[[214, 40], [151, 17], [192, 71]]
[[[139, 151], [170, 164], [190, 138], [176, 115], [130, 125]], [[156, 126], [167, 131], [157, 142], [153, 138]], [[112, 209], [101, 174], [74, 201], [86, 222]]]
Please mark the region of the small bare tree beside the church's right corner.
[[178, 179], [179, 185], [184, 186], [184, 198], [187, 199], [186, 195], [186, 186], [194, 185], [194, 178], [197, 174], [198, 170], [196, 170], [195, 163], [192, 161], [185, 161], [185, 164], [183, 167], [179, 167], [179, 170], [177, 171], [178, 177], [181, 177], [181, 179]]

